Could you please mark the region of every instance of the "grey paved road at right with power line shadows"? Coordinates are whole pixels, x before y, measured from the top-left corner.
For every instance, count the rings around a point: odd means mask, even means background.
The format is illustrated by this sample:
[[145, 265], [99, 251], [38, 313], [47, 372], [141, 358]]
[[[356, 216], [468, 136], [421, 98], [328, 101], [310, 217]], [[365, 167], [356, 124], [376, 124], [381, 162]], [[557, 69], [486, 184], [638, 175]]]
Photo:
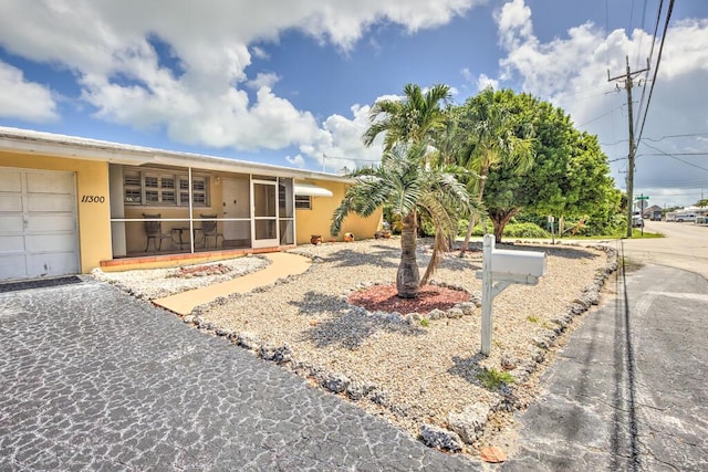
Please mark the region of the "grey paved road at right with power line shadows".
[[665, 240], [614, 243], [648, 264], [618, 274], [544, 374], [504, 470], [708, 470], [708, 252], [691, 252], [708, 228], [665, 224]]

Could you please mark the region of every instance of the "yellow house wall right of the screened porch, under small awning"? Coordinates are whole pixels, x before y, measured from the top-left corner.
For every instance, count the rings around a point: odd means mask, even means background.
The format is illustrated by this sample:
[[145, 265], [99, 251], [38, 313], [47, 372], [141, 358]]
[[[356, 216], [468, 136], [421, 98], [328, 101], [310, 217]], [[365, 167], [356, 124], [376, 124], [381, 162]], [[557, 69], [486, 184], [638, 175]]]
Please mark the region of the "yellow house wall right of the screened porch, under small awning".
[[[311, 210], [295, 210], [295, 225], [296, 234], [295, 242], [298, 244], [309, 244], [312, 234], [322, 235], [323, 241], [330, 239], [330, 224], [332, 223], [332, 216], [334, 210], [340, 206], [344, 199], [346, 191], [346, 183], [333, 182], [327, 180], [309, 180], [308, 183], [313, 183], [317, 187], [330, 190], [332, 197], [312, 197]], [[381, 229], [383, 222], [383, 209], [378, 209], [368, 218], [362, 218], [358, 214], [350, 213], [342, 224], [342, 231], [336, 235], [337, 241], [342, 241], [344, 233], [351, 232], [354, 238], [372, 239], [374, 232]]]

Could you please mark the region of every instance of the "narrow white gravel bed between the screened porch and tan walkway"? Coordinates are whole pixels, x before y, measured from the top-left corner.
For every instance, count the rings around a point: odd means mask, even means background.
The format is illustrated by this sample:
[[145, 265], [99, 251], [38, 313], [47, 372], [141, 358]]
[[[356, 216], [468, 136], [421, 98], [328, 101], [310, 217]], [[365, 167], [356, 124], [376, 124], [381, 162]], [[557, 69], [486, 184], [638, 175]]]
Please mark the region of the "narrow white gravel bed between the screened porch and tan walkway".
[[[259, 255], [246, 255], [225, 261], [169, 269], [145, 269], [124, 272], [104, 272], [94, 269], [92, 275], [115, 284], [143, 300], [155, 300], [214, 283], [226, 282], [270, 264]], [[223, 272], [223, 273], [221, 273]]]

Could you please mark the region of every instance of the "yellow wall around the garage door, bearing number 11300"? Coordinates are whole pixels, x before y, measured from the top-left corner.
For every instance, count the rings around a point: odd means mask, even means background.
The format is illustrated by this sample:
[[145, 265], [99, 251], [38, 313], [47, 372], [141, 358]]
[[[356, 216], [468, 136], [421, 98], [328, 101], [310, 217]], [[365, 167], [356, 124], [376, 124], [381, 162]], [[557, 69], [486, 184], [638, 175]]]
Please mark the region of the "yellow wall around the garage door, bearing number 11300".
[[[87, 273], [97, 268], [100, 261], [112, 258], [107, 162], [0, 153], [0, 167], [74, 172], [81, 272]], [[103, 202], [82, 202], [84, 196], [104, 199]]]

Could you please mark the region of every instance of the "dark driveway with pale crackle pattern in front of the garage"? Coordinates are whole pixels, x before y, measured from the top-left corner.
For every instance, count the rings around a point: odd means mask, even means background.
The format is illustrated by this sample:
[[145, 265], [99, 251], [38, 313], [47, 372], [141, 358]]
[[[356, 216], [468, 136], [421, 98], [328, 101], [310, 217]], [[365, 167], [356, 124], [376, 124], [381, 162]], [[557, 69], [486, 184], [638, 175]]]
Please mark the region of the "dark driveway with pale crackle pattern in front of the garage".
[[93, 281], [0, 294], [0, 470], [475, 470]]

